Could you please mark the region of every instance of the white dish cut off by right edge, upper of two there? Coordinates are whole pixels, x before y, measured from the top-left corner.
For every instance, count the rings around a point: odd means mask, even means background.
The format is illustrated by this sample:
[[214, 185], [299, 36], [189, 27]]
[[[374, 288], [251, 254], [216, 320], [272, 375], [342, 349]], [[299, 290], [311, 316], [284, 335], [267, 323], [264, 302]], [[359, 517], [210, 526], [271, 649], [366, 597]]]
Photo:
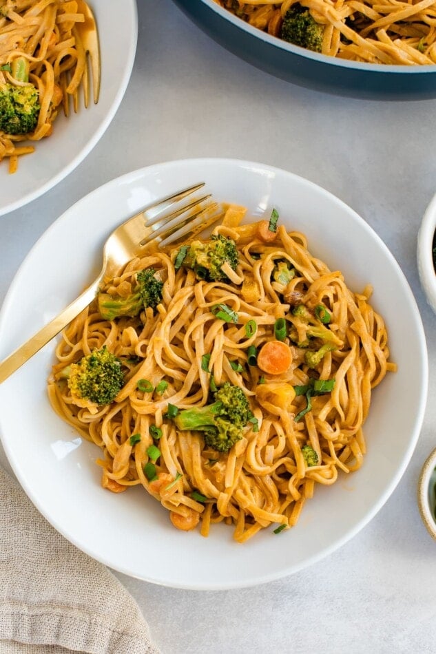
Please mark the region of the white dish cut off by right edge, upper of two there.
[[436, 271], [433, 263], [433, 239], [436, 231], [436, 195], [424, 213], [417, 239], [419, 279], [427, 302], [436, 313]]

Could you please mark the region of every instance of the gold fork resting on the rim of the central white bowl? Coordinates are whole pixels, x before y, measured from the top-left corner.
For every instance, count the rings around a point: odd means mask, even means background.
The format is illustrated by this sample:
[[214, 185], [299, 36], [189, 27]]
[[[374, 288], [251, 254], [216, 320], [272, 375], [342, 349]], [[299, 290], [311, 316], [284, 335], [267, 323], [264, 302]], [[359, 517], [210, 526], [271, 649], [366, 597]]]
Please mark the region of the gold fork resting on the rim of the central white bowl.
[[116, 271], [134, 257], [147, 253], [147, 246], [152, 242], [161, 247], [181, 238], [187, 240], [219, 220], [222, 208], [210, 199], [210, 194], [188, 198], [187, 202], [183, 202], [204, 185], [204, 182], [200, 182], [158, 200], [116, 227], [103, 246], [103, 267], [98, 277], [58, 316], [0, 363], [0, 383], [33, 357], [92, 302], [103, 277], [113, 277]]

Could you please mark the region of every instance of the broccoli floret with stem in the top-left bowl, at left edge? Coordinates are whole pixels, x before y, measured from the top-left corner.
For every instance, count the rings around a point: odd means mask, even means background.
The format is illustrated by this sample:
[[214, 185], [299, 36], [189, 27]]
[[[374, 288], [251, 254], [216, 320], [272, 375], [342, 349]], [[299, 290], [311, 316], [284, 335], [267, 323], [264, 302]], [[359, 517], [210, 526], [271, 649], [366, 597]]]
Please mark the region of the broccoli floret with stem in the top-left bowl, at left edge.
[[[29, 81], [28, 62], [23, 57], [14, 59], [10, 72], [17, 81]], [[0, 130], [5, 134], [30, 134], [37, 127], [39, 109], [34, 85], [0, 84]]]

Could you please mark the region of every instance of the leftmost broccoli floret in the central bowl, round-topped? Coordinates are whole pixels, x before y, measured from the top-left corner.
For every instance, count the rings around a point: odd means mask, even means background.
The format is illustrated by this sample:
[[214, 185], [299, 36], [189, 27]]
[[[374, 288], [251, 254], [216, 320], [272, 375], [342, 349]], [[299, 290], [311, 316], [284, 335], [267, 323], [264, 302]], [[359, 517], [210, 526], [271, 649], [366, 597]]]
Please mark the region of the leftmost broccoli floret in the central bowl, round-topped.
[[121, 361], [106, 346], [71, 363], [61, 377], [67, 379], [73, 396], [98, 405], [110, 404], [124, 385]]

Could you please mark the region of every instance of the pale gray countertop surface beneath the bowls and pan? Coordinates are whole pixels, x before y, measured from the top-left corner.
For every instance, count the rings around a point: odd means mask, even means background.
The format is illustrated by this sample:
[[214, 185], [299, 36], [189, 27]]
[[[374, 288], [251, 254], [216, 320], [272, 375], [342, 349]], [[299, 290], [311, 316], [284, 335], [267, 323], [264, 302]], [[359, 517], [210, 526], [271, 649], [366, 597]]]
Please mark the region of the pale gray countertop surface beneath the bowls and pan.
[[0, 218], [0, 301], [45, 229], [104, 182], [165, 160], [255, 160], [331, 191], [380, 234], [422, 314], [430, 387], [422, 433], [395, 492], [357, 536], [313, 567], [231, 591], [116, 576], [164, 654], [433, 652], [436, 543], [419, 518], [416, 488], [436, 447], [436, 316], [419, 285], [416, 240], [436, 192], [436, 100], [357, 101], [295, 87], [220, 48], [170, 0], [142, 0], [138, 12], [132, 78], [101, 141], [54, 189]]

